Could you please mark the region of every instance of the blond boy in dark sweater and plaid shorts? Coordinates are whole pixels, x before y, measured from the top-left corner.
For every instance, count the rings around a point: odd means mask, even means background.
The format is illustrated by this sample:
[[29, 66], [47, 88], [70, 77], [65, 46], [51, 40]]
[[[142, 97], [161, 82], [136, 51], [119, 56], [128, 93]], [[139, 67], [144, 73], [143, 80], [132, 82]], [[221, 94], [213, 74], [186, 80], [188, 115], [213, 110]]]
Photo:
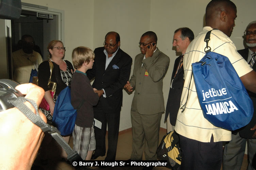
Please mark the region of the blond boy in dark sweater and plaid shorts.
[[82, 159], [90, 160], [96, 148], [93, 127], [93, 106], [99, 101], [99, 96], [94, 92], [86, 71], [93, 67], [94, 52], [87, 47], [77, 47], [72, 53], [72, 62], [77, 69], [71, 81], [71, 104], [77, 109], [77, 119], [73, 131], [74, 151]]

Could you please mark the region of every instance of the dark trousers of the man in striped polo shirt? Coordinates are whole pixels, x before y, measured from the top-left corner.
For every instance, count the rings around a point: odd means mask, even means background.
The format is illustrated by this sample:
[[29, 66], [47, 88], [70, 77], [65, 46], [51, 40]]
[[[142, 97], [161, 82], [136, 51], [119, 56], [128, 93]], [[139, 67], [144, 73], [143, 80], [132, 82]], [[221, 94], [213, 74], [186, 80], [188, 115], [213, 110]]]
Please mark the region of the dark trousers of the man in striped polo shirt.
[[222, 142], [199, 142], [179, 135], [182, 151], [181, 170], [220, 170]]

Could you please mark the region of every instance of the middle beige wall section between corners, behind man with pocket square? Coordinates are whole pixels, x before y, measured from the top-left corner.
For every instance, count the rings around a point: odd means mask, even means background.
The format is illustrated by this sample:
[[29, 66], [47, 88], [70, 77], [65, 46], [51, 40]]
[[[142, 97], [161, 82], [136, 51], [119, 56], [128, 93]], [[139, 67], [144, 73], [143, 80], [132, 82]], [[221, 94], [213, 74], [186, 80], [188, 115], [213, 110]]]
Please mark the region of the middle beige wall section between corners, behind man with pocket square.
[[[134, 62], [135, 55], [140, 53], [140, 36], [149, 30], [150, 3], [148, 2], [148, 0], [95, 0], [94, 48], [102, 47], [106, 33], [116, 31], [120, 35], [121, 49], [128, 53]], [[123, 95], [120, 131], [131, 128], [130, 109], [133, 94], [128, 95], [123, 90]]]

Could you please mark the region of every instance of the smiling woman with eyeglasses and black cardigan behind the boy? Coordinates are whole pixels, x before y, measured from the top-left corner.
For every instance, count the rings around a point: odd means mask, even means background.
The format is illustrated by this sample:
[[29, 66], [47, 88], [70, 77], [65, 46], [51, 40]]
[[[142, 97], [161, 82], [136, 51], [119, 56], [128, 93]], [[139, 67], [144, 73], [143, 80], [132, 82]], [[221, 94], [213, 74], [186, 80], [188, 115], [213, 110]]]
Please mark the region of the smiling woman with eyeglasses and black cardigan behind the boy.
[[[49, 103], [50, 110], [46, 111], [40, 108], [41, 111], [47, 117], [47, 121], [51, 122], [54, 111], [55, 102], [61, 90], [70, 85], [74, 68], [72, 64], [63, 60], [65, 56], [65, 47], [62, 41], [52, 40], [47, 47], [49, 51], [49, 60], [53, 63], [53, 69], [51, 74], [51, 81], [56, 83], [56, 91], [52, 99], [50, 89], [48, 89], [48, 81], [50, 78], [50, 65], [48, 61], [44, 61], [38, 67], [38, 86], [45, 90], [44, 98]], [[63, 139], [68, 143], [70, 136], [63, 136]], [[49, 142], [49, 141], [48, 141]], [[48, 143], [47, 142], [47, 143]], [[66, 152], [62, 149], [61, 157], [67, 159]]]

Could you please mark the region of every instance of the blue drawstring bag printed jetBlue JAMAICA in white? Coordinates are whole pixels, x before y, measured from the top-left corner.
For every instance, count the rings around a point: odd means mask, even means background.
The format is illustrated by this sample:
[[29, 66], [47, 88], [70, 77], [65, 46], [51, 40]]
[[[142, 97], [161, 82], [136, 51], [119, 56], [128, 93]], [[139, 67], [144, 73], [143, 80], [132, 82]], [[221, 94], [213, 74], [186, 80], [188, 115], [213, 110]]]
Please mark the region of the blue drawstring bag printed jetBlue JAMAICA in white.
[[[205, 41], [210, 40], [210, 33], [207, 34]], [[197, 97], [204, 117], [220, 128], [242, 128], [252, 119], [252, 100], [229, 59], [210, 49], [205, 52], [202, 60], [192, 63]]]

